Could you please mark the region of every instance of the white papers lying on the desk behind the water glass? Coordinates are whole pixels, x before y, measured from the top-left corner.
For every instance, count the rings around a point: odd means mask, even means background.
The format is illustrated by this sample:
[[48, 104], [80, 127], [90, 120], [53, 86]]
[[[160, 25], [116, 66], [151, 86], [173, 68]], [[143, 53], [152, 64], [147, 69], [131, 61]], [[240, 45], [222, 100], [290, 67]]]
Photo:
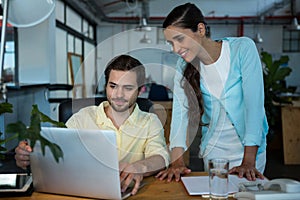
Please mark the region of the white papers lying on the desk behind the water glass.
[[[181, 177], [181, 180], [189, 195], [207, 195], [209, 194], [208, 176], [187, 176]], [[265, 180], [261, 180], [265, 181]], [[228, 193], [239, 191], [239, 183], [250, 182], [246, 178], [239, 178], [236, 175], [228, 176]]]

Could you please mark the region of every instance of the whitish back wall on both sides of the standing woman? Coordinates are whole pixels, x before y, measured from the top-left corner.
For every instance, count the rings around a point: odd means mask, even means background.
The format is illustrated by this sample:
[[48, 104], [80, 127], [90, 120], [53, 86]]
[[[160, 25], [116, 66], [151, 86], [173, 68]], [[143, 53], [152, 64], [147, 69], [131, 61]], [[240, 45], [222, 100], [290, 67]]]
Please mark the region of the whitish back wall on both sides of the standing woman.
[[[132, 26], [131, 26], [132, 27]], [[211, 25], [212, 39], [219, 39], [222, 37], [234, 37], [238, 35], [239, 25], [224, 24], [224, 25]], [[126, 31], [130, 28], [129, 25], [111, 24], [98, 28], [99, 45], [98, 45], [98, 77], [102, 76], [106, 63], [114, 56], [121, 53], [130, 53], [137, 57], [143, 64], [146, 64], [147, 76], [160, 84], [163, 84], [172, 89], [173, 67], [174, 61], [168, 63], [167, 66], [163, 65], [162, 53], [169, 52], [169, 47], [164, 44], [163, 36], [157, 30], [156, 34], [153, 30], [147, 33], [152, 39], [152, 44], [139, 43], [143, 33], [136, 32], [133, 29]], [[274, 58], [284, 54], [290, 57], [289, 66], [293, 69], [292, 74], [286, 79], [287, 85], [298, 86], [300, 88], [300, 77], [298, 58], [300, 53], [282, 53], [282, 32], [281, 25], [244, 25], [244, 36], [255, 38], [256, 33], [260, 33], [263, 38], [263, 43], [257, 43], [259, 53], [267, 51], [274, 55]], [[162, 37], [162, 38], [161, 38]], [[174, 64], [172, 66], [172, 63]], [[104, 79], [100, 81], [100, 87], [104, 84]]]

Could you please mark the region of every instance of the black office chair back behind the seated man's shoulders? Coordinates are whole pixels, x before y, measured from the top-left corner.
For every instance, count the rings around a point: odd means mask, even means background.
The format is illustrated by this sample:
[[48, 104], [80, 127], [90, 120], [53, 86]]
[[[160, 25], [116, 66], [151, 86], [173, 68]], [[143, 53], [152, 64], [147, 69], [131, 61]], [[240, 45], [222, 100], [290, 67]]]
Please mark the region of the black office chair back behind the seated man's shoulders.
[[[81, 99], [68, 99], [61, 102], [58, 106], [58, 120], [66, 123], [68, 119], [81, 108], [96, 105], [98, 106], [101, 102], [106, 101], [106, 97], [95, 97], [95, 98], [81, 98]], [[136, 100], [139, 108], [145, 112], [151, 112], [153, 103], [146, 98], [137, 98]]]

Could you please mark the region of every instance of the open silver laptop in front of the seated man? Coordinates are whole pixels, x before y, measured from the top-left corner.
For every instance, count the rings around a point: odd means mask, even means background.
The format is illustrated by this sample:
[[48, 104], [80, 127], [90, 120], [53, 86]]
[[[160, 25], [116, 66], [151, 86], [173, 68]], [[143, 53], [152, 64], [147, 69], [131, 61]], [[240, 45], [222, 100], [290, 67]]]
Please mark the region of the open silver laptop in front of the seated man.
[[[109, 130], [42, 127], [41, 134], [60, 146], [57, 163], [37, 142], [30, 155], [35, 191], [101, 199], [124, 199], [121, 193], [116, 135]], [[123, 195], [123, 196], [122, 196]]]

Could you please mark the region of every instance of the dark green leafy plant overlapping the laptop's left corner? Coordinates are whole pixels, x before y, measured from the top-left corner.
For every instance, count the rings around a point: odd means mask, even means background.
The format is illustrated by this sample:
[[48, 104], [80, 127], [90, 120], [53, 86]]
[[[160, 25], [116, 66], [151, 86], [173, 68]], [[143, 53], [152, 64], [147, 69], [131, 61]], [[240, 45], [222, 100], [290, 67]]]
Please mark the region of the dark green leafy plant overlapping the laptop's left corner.
[[[12, 105], [9, 103], [1, 103], [0, 104], [0, 114], [12, 112]], [[50, 123], [55, 127], [66, 127], [64, 123], [57, 122], [49, 118], [47, 115], [43, 114], [39, 111], [37, 105], [32, 106], [31, 117], [30, 117], [30, 125], [27, 127], [23, 122], [11, 123], [6, 126], [5, 131], [7, 133], [13, 134], [11, 137], [6, 138], [4, 140], [0, 140], [0, 145], [18, 138], [21, 140], [29, 140], [30, 146], [33, 148], [37, 141], [40, 141], [42, 147], [42, 153], [45, 154], [46, 146], [49, 147], [52, 152], [56, 162], [59, 161], [59, 158], [63, 158], [63, 152], [61, 148], [55, 144], [51, 143], [45, 137], [41, 135], [41, 123], [46, 122]], [[0, 135], [2, 133], [0, 132]], [[0, 146], [0, 152], [5, 152], [6, 148]]]

